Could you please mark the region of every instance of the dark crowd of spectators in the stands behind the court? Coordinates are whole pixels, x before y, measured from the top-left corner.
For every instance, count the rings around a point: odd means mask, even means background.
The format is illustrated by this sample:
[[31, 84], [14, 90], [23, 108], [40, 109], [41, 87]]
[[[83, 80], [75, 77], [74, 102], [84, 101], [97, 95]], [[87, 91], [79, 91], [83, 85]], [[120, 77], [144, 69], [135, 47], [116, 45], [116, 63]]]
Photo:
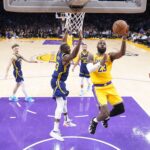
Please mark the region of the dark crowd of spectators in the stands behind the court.
[[[48, 38], [63, 33], [61, 19], [55, 14], [10, 13], [0, 5], [0, 37]], [[150, 12], [143, 14], [86, 14], [83, 27], [85, 38], [114, 38], [112, 24], [123, 19], [130, 25], [129, 39], [150, 46]]]

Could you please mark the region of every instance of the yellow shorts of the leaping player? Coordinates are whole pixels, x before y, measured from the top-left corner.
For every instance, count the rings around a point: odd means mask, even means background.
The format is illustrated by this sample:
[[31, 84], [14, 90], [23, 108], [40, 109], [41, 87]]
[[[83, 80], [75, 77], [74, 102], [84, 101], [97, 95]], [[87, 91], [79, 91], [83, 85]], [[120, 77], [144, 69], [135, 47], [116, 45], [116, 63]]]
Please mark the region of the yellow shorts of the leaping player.
[[107, 105], [108, 102], [111, 105], [116, 105], [123, 102], [113, 84], [102, 87], [93, 86], [93, 93], [100, 106]]

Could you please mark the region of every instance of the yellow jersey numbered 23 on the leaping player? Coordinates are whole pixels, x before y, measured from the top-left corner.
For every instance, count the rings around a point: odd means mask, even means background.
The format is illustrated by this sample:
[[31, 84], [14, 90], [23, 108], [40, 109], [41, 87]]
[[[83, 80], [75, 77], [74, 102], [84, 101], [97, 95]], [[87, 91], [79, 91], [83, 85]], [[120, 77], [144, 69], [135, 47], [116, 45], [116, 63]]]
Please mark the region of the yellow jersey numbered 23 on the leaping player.
[[[94, 64], [100, 62], [103, 59], [103, 56], [95, 55]], [[93, 84], [105, 84], [112, 80], [111, 76], [112, 61], [108, 55], [107, 61], [104, 66], [101, 66], [94, 72], [90, 73], [91, 81]]]

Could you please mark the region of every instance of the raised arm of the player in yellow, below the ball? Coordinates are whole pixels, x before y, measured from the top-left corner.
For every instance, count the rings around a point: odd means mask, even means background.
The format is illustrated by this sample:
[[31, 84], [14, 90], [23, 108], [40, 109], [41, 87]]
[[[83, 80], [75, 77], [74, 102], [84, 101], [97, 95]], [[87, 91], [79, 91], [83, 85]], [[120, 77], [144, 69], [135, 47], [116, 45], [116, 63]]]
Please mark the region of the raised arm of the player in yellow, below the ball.
[[121, 58], [122, 56], [125, 55], [125, 53], [126, 53], [126, 39], [127, 39], [127, 36], [122, 37], [121, 49], [120, 49], [119, 52], [109, 53], [110, 58], [111, 58], [112, 61], [115, 60], [115, 59], [119, 59], [119, 58]]

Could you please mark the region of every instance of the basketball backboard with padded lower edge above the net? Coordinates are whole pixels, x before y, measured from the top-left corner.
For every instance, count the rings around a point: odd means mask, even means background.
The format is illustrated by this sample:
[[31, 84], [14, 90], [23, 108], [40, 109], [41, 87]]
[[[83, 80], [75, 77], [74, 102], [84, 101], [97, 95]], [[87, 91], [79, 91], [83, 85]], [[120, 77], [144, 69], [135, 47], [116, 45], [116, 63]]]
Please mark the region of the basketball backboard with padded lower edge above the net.
[[[141, 13], [147, 0], [3, 0], [11, 12]], [[72, 4], [72, 5], [71, 5]], [[80, 9], [72, 9], [78, 7]]]

